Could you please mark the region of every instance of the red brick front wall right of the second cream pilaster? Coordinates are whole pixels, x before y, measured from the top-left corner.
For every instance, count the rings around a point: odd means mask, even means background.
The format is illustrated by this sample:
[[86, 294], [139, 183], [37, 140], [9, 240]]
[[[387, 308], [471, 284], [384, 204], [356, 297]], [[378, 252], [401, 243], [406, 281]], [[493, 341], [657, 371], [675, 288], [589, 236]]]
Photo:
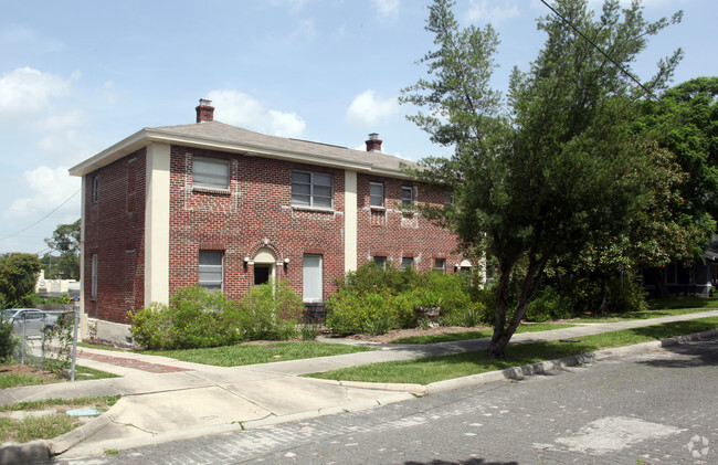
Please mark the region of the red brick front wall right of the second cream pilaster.
[[[369, 182], [383, 183], [383, 210], [370, 208]], [[414, 268], [427, 272], [433, 268], [435, 257], [445, 257], [446, 271], [453, 272], [454, 264], [461, 262], [461, 256], [456, 253], [456, 237], [418, 213], [402, 212], [399, 208], [402, 186], [418, 187], [414, 189], [416, 203], [443, 205], [442, 192], [431, 192], [411, 181], [358, 175], [358, 264], [373, 260], [374, 255], [382, 255], [400, 266], [402, 257], [413, 256]]]

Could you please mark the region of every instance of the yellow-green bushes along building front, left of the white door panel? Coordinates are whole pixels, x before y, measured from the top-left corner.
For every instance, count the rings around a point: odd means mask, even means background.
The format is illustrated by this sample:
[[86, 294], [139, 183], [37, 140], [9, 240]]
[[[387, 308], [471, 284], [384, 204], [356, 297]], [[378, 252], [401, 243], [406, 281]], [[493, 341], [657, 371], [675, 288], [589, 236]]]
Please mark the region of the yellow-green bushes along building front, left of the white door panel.
[[127, 317], [137, 344], [168, 350], [287, 339], [303, 309], [302, 299], [279, 282], [253, 287], [239, 304], [221, 290], [183, 287], [169, 305], [152, 303]]

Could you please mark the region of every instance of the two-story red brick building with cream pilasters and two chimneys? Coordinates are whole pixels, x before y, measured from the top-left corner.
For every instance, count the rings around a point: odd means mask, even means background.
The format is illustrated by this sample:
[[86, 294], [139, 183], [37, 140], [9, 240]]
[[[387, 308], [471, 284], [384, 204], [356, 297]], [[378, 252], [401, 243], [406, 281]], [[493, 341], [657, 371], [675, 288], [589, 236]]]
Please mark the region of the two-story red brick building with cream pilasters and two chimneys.
[[367, 151], [266, 136], [214, 121], [210, 104], [200, 101], [197, 124], [145, 128], [70, 170], [83, 178], [81, 294], [93, 337], [125, 341], [128, 310], [188, 285], [239, 299], [288, 279], [321, 315], [335, 279], [367, 261], [471, 265], [452, 233], [401, 210], [451, 195], [412, 181], [376, 134]]

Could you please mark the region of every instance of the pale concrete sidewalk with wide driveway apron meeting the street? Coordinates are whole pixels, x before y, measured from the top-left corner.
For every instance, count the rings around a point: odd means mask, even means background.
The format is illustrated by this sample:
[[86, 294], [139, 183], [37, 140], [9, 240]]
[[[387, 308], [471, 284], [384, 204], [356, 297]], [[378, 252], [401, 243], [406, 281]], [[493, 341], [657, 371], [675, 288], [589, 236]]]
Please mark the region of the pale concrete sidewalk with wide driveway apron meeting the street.
[[[718, 310], [524, 332], [515, 335], [511, 344], [574, 339], [710, 316], [718, 316]], [[372, 346], [379, 350], [234, 368], [83, 348], [78, 353], [80, 364], [113, 372], [122, 378], [9, 388], [0, 391], [0, 404], [41, 399], [123, 395], [102, 416], [50, 444], [38, 442], [36, 445], [38, 448], [46, 448], [49, 445], [53, 454], [62, 453], [66, 457], [95, 455], [106, 450], [250, 429], [411, 399], [412, 393], [426, 393], [431, 390], [413, 384], [336, 382], [299, 376], [382, 361], [483, 350], [488, 347], [488, 338], [434, 345]], [[469, 380], [462, 382], [478, 383], [507, 377], [507, 373], [469, 377]], [[442, 383], [446, 389], [458, 387], [455, 380]]]

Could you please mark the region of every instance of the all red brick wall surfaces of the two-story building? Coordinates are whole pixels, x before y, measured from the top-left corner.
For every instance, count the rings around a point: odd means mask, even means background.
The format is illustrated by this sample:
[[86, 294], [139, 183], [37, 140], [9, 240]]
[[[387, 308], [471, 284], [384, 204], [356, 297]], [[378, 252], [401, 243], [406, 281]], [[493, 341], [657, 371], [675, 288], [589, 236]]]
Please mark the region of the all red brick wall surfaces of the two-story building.
[[[230, 160], [230, 189], [213, 191], [192, 186], [194, 157]], [[334, 211], [292, 207], [292, 170], [330, 173]], [[98, 179], [98, 199], [92, 200], [92, 182]], [[434, 257], [446, 258], [446, 270], [461, 262], [456, 242], [421, 216], [405, 218], [398, 209], [405, 181], [358, 175], [358, 263], [381, 253], [401, 264], [413, 256], [418, 271], [433, 267]], [[383, 211], [369, 208], [369, 182], [384, 183]], [[91, 317], [127, 323], [129, 309], [144, 306], [144, 225], [146, 150], [141, 149], [85, 178], [85, 303]], [[443, 202], [442, 193], [419, 189], [419, 202]], [[254, 283], [253, 265], [258, 249], [274, 251], [281, 278], [302, 295], [303, 256], [323, 255], [324, 298], [336, 290], [342, 275], [345, 226], [345, 171], [187, 147], [171, 147], [170, 158], [170, 296], [199, 281], [199, 251], [224, 251], [224, 292], [239, 299]], [[265, 245], [266, 242], [266, 245]], [[98, 296], [91, 298], [92, 254], [98, 256]]]

